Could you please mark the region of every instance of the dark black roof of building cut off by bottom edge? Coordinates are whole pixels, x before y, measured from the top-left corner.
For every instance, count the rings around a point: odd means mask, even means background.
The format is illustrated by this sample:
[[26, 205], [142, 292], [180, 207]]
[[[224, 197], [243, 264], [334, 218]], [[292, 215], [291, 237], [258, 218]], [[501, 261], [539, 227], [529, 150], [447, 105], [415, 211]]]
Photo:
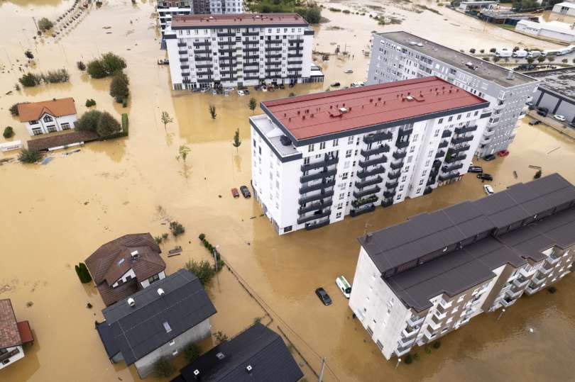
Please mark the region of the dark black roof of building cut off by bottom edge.
[[258, 322], [192, 361], [171, 382], [296, 382], [302, 377], [283, 339]]

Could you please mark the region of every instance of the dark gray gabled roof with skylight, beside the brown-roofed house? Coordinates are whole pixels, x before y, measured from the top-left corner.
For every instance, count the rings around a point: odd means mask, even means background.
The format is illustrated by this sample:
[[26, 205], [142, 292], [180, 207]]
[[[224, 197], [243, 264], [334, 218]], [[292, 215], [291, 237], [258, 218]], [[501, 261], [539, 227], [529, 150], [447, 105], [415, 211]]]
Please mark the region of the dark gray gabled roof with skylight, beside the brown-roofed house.
[[[163, 296], [158, 288], [163, 289]], [[216, 313], [199, 279], [185, 269], [131, 298], [136, 306], [129, 306], [127, 298], [120, 300], [102, 310], [106, 320], [97, 326], [108, 356], [121, 352], [128, 365]], [[170, 332], [164, 322], [168, 322]]]

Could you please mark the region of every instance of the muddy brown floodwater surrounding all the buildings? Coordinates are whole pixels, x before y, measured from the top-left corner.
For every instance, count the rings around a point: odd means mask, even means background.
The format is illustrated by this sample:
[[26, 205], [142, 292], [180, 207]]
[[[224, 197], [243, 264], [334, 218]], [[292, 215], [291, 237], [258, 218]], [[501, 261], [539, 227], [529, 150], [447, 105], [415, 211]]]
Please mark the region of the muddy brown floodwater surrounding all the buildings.
[[[163, 52], [158, 50], [158, 32], [150, 17], [153, 4], [149, 1], [135, 5], [104, 1], [101, 9], [92, 6], [64, 37], [32, 39], [32, 16], [37, 20], [55, 18], [71, 4], [64, 0], [0, 3], [0, 33], [4, 36], [0, 47], [0, 126], [12, 125], [14, 139], [27, 140], [23, 125], [7, 111], [11, 104], [72, 96], [80, 114], [86, 110], [83, 104], [88, 98], [97, 101], [97, 108], [116, 116], [129, 113], [130, 137], [93, 142], [69, 156], [53, 153], [55, 158], [46, 166], [17, 162], [0, 166], [0, 200], [4, 202], [0, 215], [0, 298], [11, 298], [18, 320], [31, 322], [36, 339], [26, 348], [23, 360], [0, 371], [0, 381], [137, 381], [133, 367], [112, 365], [106, 359], [94, 330], [94, 320], [102, 320], [102, 301], [93, 286], [78, 282], [73, 267], [102, 243], [125, 233], [168, 232], [165, 222], [170, 219], [185, 225], [186, 232], [163, 244], [164, 252], [175, 245], [184, 249], [180, 256], [165, 259], [168, 273], [189, 259], [208, 259], [197, 240], [204, 232], [210, 242], [220, 246], [234, 274], [270, 313], [270, 327], [280, 327], [314, 371], [319, 371], [321, 357], [326, 357], [324, 381], [572, 379], [575, 308], [568, 300], [574, 288], [572, 276], [558, 283], [553, 295], [542, 292], [521, 298], [500, 320], [496, 320], [497, 314], [474, 318], [444, 337], [440, 349], [432, 354], [420, 351], [419, 361], [398, 369], [395, 361], [385, 361], [379, 354], [336, 290], [336, 276], [343, 274], [353, 280], [356, 237], [410, 215], [482, 196], [481, 183], [473, 176], [398, 206], [346, 218], [319, 230], [278, 237], [253, 199], [234, 199], [229, 192], [231, 187], [249, 184], [251, 178], [248, 97], [170, 91], [168, 68], [156, 65]], [[366, 4], [346, 6], [359, 9]], [[371, 30], [405, 28], [458, 49], [520, 42], [554, 46], [484, 26], [448, 9], [441, 9], [444, 14], [439, 16], [383, 4], [387, 12], [406, 18], [402, 25], [382, 27], [368, 16], [324, 11], [331, 22], [317, 27], [317, 50], [333, 51], [339, 44], [352, 55], [346, 60], [332, 56], [322, 63], [327, 74], [324, 84], [300, 85], [277, 93], [254, 92], [253, 96], [262, 101], [287, 96], [290, 91], [321, 91], [330, 82], [364, 80], [368, 59], [361, 50], [368, 45]], [[326, 6], [343, 7], [335, 3]], [[428, 28], [422, 30], [423, 26]], [[35, 70], [66, 67], [70, 83], [7, 95], [21, 75], [18, 66], [25, 63], [26, 49], [36, 56]], [[106, 79], [89, 79], [75, 67], [77, 60], [87, 61], [109, 50], [128, 63], [132, 94], [128, 108], [112, 102]], [[346, 68], [354, 69], [354, 73], [343, 74]], [[215, 120], [209, 117], [209, 104], [217, 108]], [[162, 111], [174, 117], [166, 128], [160, 123]], [[236, 128], [244, 141], [237, 151], [231, 145]], [[186, 164], [175, 158], [180, 145], [192, 150]], [[535, 170], [527, 167], [530, 164], [541, 166], [544, 174], [559, 172], [575, 182], [575, 146], [552, 129], [524, 124], [510, 151], [508, 157], [481, 163], [495, 176], [495, 190], [532, 179]], [[0, 154], [0, 159], [13, 156]], [[207, 288], [218, 310], [212, 318], [213, 329], [229, 337], [265, 314], [234, 274], [221, 271], [219, 282], [214, 280]], [[313, 293], [318, 286], [332, 295], [333, 305], [319, 303]], [[92, 309], [86, 308], [88, 302], [94, 305]], [[29, 303], [32, 305], [27, 306]], [[209, 346], [210, 340], [204, 349]], [[297, 360], [302, 362], [299, 356]], [[176, 365], [182, 364], [183, 359], [177, 359]], [[302, 369], [309, 381], [314, 380], [311, 369]]]

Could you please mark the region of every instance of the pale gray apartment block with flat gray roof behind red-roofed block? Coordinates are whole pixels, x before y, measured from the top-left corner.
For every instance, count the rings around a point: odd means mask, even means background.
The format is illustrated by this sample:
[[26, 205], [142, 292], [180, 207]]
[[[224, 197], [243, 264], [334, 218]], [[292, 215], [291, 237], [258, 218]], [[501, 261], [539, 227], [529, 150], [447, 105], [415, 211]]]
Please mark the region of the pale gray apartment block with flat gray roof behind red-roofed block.
[[476, 154], [507, 150], [518, 120], [537, 89], [536, 79], [512, 72], [463, 52], [407, 32], [374, 33], [368, 84], [437, 76], [491, 103], [491, 118], [482, 130]]

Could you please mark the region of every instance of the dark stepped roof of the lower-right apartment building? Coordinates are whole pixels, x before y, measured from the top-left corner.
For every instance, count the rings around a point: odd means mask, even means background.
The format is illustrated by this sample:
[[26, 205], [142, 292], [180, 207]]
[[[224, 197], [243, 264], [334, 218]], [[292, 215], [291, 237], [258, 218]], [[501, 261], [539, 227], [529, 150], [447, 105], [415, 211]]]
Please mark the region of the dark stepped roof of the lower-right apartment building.
[[[492, 270], [503, 264], [538, 262], [544, 249], [573, 245], [574, 203], [575, 186], [552, 174], [478, 201], [417, 215], [359, 240], [405, 305], [424, 310], [432, 296], [455, 296], [493, 278]], [[534, 223], [507, 233], [500, 230], [538, 214], [540, 220]], [[445, 247], [449, 250], [443, 253]]]

